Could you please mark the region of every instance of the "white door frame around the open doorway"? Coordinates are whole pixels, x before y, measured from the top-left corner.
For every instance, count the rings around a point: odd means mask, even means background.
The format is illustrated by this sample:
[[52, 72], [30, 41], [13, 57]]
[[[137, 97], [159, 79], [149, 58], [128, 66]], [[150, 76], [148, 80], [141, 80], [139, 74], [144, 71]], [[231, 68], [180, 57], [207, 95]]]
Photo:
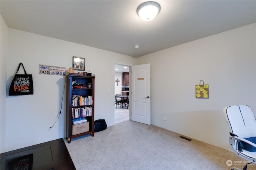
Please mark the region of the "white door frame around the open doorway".
[[[131, 75], [131, 72], [132, 72], [132, 70], [131, 70], [131, 66], [133, 66], [133, 64], [127, 64], [127, 63], [121, 63], [121, 62], [116, 62], [116, 61], [114, 61], [113, 62], [113, 80], [112, 80], [112, 82], [113, 82], [113, 84], [112, 84], [112, 86], [113, 86], [113, 92], [112, 92], [112, 99], [114, 99], [114, 97], [115, 97], [115, 64], [118, 64], [118, 65], [124, 65], [124, 66], [128, 66], [129, 67], [129, 75]], [[130, 96], [130, 82], [131, 82], [131, 76], [129, 76], [129, 96]], [[129, 100], [130, 100], [130, 98], [129, 98]], [[114, 106], [114, 100], [113, 100], [113, 102], [112, 102], [113, 104], [112, 104], [112, 106], [113, 106], [113, 125], [115, 125], [115, 106]], [[129, 103], [130, 103], [130, 101], [129, 101]], [[131, 117], [132, 117], [132, 112], [131, 112], [131, 105], [129, 105], [129, 120], [131, 120]]]

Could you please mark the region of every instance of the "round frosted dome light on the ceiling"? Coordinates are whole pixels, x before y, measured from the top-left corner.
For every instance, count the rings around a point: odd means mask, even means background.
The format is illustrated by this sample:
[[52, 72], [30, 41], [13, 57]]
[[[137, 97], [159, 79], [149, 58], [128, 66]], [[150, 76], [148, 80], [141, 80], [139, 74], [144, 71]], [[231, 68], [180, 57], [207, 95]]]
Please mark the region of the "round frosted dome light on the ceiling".
[[137, 14], [144, 21], [153, 20], [160, 11], [160, 5], [156, 2], [144, 2], [137, 8]]

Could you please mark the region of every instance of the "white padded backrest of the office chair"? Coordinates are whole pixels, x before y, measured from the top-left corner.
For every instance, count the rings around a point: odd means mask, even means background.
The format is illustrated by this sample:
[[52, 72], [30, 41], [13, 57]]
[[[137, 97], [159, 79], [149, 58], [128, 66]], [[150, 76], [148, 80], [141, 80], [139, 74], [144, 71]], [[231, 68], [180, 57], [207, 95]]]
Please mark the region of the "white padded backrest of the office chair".
[[241, 138], [256, 136], [256, 119], [249, 106], [228, 106], [224, 108], [223, 112], [228, 122], [230, 133]]

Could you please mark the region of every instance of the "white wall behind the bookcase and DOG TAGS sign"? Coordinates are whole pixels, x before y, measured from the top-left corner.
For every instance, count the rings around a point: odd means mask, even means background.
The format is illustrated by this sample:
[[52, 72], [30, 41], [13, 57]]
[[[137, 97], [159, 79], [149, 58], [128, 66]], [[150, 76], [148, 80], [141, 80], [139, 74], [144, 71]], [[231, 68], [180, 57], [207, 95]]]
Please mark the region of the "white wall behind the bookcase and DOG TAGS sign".
[[60, 119], [48, 132], [60, 110], [65, 77], [38, 74], [39, 64], [64, 66], [67, 70], [72, 67], [72, 56], [85, 58], [86, 71], [96, 76], [95, 119], [106, 119], [108, 126], [114, 124], [114, 63], [134, 64], [134, 58], [10, 28], [8, 45], [7, 86], [22, 62], [33, 76], [34, 95], [7, 96], [5, 151], [66, 138], [65, 96]]

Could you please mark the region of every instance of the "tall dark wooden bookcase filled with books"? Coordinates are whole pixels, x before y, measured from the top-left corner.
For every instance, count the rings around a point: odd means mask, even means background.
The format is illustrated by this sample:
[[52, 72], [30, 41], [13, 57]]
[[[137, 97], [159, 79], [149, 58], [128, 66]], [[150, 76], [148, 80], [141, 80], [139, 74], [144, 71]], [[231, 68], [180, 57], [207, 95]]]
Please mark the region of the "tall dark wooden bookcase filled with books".
[[[68, 143], [76, 137], [89, 134], [94, 136], [94, 79], [95, 76], [66, 76], [66, 139]], [[74, 82], [83, 84], [83, 87], [90, 84], [91, 88], [73, 88], [72, 85]], [[72, 125], [72, 119], [79, 117], [85, 117], [87, 119], [89, 122], [89, 131], [73, 134], [74, 126]]]

